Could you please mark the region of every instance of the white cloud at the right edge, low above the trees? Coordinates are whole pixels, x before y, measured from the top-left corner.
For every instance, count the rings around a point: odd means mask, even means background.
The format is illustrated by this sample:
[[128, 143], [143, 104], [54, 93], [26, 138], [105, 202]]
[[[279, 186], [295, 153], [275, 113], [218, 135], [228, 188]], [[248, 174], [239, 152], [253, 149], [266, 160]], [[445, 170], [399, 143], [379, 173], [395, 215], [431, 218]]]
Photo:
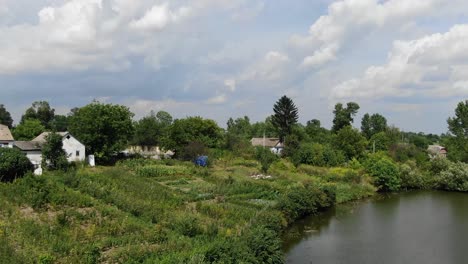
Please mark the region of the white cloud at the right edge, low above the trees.
[[468, 24], [444, 34], [396, 41], [387, 64], [332, 90], [335, 99], [468, 96]]

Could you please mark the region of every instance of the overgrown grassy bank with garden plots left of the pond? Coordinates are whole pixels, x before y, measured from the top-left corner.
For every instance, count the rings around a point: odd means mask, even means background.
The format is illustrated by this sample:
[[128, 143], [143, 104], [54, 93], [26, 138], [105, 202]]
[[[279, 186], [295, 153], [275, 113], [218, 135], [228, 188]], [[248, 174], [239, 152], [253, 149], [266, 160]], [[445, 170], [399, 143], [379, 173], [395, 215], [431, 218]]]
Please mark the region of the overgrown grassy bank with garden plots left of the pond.
[[280, 232], [370, 196], [360, 171], [130, 160], [0, 184], [2, 263], [281, 263]]

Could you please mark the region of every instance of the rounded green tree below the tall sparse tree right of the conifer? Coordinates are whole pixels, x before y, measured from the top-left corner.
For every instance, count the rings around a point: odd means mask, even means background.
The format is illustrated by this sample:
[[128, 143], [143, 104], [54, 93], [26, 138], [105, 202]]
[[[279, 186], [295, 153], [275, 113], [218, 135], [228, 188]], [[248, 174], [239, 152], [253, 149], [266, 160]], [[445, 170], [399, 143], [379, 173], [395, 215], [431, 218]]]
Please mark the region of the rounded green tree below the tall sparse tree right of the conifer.
[[335, 138], [335, 147], [343, 151], [348, 160], [362, 156], [366, 150], [366, 146], [366, 138], [351, 126], [346, 126], [338, 131]]

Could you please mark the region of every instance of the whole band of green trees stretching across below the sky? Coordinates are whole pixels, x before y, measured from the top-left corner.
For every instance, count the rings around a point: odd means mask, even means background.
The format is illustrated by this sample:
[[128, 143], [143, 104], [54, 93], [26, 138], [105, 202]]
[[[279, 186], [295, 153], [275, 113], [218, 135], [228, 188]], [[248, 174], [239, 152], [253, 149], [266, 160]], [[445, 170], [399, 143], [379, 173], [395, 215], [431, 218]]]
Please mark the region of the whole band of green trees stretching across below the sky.
[[283, 96], [264, 121], [252, 123], [248, 116], [229, 118], [227, 128], [222, 129], [210, 119], [174, 120], [165, 111], [151, 111], [133, 121], [128, 107], [98, 101], [73, 108], [68, 115], [57, 115], [48, 102], [38, 101], [26, 109], [16, 126], [0, 105], [0, 123], [12, 129], [16, 140], [32, 140], [44, 131], [69, 131], [86, 145], [88, 154], [101, 159], [109, 159], [128, 145], [175, 150], [180, 159], [214, 149], [243, 155], [254, 152], [251, 138], [266, 136], [278, 137], [286, 146], [283, 157], [296, 164], [338, 166], [378, 151], [388, 151], [396, 160], [424, 160], [427, 146], [434, 143], [446, 146], [451, 160], [468, 162], [468, 100], [458, 104], [455, 115], [447, 120], [448, 133], [442, 135], [403, 132], [389, 126], [379, 113], [364, 114], [359, 130], [353, 127], [359, 110], [355, 102], [336, 104], [333, 126], [327, 129], [318, 119], [299, 123], [299, 109]]

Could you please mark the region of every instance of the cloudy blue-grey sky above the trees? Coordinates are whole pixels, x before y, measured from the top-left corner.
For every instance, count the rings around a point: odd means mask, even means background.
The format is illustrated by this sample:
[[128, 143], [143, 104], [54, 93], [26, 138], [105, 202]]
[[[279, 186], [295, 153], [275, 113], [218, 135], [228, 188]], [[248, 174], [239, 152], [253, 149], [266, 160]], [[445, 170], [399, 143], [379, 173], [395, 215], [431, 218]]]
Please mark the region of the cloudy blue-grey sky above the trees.
[[331, 126], [336, 102], [446, 132], [468, 98], [466, 0], [0, 0], [0, 103], [93, 99], [263, 120], [282, 95]]

